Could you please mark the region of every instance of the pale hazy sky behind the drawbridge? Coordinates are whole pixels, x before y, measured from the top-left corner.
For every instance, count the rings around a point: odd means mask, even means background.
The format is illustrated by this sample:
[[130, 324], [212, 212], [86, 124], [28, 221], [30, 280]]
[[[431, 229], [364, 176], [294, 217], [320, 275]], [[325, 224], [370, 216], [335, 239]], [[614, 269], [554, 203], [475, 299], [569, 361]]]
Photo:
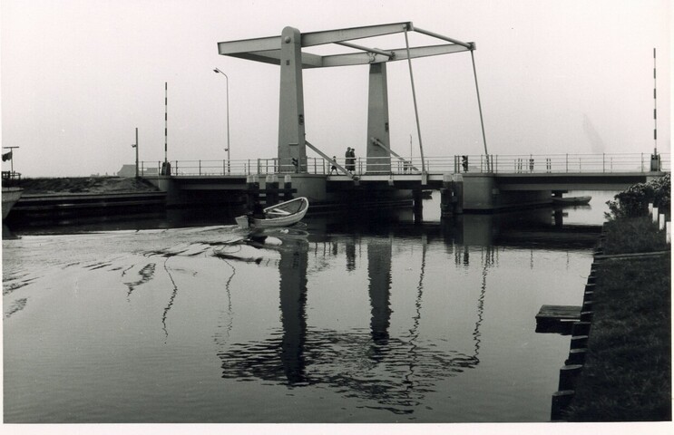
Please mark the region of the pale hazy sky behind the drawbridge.
[[[669, 3], [0, 0], [2, 143], [21, 147], [15, 170], [27, 177], [112, 174], [134, 160], [135, 127], [141, 160], [163, 160], [168, 82], [169, 160], [224, 159], [227, 87], [218, 67], [230, 78], [232, 160], [275, 157], [278, 67], [220, 56], [218, 42], [288, 25], [314, 32], [412, 21], [477, 44], [492, 154], [650, 152], [657, 48], [658, 146], [669, 152]], [[397, 48], [405, 39], [363, 43]], [[410, 43], [438, 42], [411, 34]], [[417, 59], [413, 68], [425, 155], [482, 153], [470, 53]], [[367, 73], [304, 72], [307, 140], [327, 154], [365, 152]], [[407, 155], [415, 115], [406, 62], [389, 63], [388, 81], [392, 147]]]

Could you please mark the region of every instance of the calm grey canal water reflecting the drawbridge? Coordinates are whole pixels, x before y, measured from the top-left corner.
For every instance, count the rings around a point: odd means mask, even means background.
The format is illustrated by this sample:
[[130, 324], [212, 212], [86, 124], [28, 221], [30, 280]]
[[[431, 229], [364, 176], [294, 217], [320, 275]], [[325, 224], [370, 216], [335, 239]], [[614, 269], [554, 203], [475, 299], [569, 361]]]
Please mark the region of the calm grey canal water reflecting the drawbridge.
[[[611, 192], [591, 206], [217, 214], [16, 229], [3, 240], [4, 418], [56, 422], [550, 420]], [[384, 218], [384, 216], [387, 218]], [[223, 225], [227, 224], [227, 225]]]

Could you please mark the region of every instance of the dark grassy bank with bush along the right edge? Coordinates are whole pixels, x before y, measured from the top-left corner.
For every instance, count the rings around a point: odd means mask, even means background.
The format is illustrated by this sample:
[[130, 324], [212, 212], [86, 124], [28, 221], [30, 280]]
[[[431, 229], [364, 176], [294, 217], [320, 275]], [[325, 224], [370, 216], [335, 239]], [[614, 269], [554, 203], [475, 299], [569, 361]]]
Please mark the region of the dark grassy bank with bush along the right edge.
[[649, 202], [669, 214], [669, 176], [615, 198], [596, 263], [588, 353], [566, 420], [671, 420], [670, 245], [648, 216]]

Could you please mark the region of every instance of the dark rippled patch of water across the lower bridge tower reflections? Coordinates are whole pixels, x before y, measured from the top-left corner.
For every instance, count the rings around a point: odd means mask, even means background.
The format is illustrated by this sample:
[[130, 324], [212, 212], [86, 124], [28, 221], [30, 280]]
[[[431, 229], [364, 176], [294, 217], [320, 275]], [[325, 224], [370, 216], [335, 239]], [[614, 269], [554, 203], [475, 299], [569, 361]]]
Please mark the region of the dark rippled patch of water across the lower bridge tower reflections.
[[300, 346], [281, 331], [265, 341], [233, 343], [218, 353], [222, 377], [314, 385], [366, 403], [367, 408], [407, 414], [435, 391], [436, 382], [472, 369], [479, 360], [429, 343], [370, 333], [311, 329]]

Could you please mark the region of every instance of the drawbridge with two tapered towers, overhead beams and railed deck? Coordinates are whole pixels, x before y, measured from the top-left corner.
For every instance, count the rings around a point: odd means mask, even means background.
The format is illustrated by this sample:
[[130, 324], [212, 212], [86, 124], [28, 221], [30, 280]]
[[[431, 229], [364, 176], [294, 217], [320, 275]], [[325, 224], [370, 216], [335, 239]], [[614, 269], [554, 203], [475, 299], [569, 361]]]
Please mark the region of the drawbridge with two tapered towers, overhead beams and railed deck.
[[[411, 33], [423, 34], [438, 43], [411, 46]], [[386, 35], [398, 35], [400, 44], [386, 49], [366, 46], [368, 40]], [[337, 51], [343, 49], [344, 53], [334, 53], [334, 48], [328, 46], [337, 46]], [[309, 47], [312, 52], [325, 47], [330, 53], [308, 53]], [[291, 184], [299, 196], [308, 197], [312, 208], [339, 207], [346, 202], [361, 208], [368, 201], [386, 202], [393, 198], [395, 202], [401, 197], [407, 201], [414, 197], [415, 207], [420, 207], [422, 189], [441, 189], [443, 214], [445, 211], [454, 214], [464, 210], [482, 212], [551, 204], [553, 193], [561, 196], [575, 189], [624, 189], [669, 171], [669, 155], [489, 154], [474, 51], [475, 43], [436, 34], [411, 22], [304, 34], [286, 27], [276, 36], [218, 43], [221, 55], [278, 65], [277, 155], [257, 160], [176, 160], [171, 162], [171, 174], [151, 178], [151, 181], [168, 193], [169, 205], [230, 202], [230, 198], [237, 195], [250, 198], [251, 191], [269, 192], [262, 194], [269, 202], [278, 197], [275, 192], [281, 181]], [[470, 155], [425, 157], [412, 61], [462, 52], [471, 55], [479, 110], [475, 115], [480, 117], [484, 150], [472, 150]], [[396, 61], [407, 63], [409, 69], [419, 159], [406, 160], [391, 144], [386, 65]], [[306, 120], [310, 117], [305, 116], [302, 74], [305, 69], [351, 65], [368, 65], [369, 82], [367, 131], [363, 138], [366, 157], [357, 159], [356, 169], [347, 170], [349, 168], [339, 164], [344, 160], [331, 160], [320, 150], [320, 144], [312, 144], [305, 135]], [[308, 156], [308, 149], [319, 157]], [[467, 154], [467, 150], [462, 151]], [[331, 166], [337, 167], [337, 175], [331, 174]], [[197, 192], [199, 195], [194, 195]]]

